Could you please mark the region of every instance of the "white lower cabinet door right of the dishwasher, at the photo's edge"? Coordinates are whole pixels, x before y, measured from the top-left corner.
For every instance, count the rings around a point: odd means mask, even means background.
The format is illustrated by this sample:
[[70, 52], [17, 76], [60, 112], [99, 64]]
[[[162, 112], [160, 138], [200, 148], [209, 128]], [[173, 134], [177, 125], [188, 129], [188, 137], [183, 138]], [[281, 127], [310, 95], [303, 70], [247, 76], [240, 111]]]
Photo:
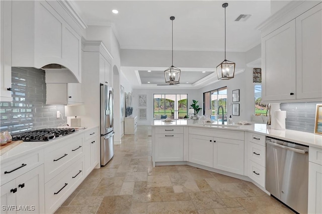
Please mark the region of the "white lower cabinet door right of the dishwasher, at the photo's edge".
[[307, 213], [322, 213], [322, 149], [309, 147]]

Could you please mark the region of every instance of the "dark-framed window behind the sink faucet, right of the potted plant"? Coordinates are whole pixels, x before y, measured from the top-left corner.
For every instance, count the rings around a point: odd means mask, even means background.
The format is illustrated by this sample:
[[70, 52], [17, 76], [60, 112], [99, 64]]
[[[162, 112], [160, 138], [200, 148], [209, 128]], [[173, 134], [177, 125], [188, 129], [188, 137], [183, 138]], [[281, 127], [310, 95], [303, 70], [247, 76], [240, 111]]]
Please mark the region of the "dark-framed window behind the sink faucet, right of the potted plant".
[[[219, 108], [220, 106], [222, 108]], [[212, 121], [227, 120], [227, 87], [203, 93], [203, 113], [208, 109], [212, 110], [210, 116]]]

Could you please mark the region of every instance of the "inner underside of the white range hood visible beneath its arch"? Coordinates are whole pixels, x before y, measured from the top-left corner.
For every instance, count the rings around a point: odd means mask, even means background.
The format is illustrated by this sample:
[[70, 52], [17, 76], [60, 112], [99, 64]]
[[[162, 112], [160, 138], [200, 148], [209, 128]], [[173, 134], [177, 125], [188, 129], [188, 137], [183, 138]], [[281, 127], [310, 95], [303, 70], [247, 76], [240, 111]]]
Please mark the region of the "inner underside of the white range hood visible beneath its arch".
[[74, 74], [59, 64], [48, 64], [41, 69], [45, 70], [46, 83], [79, 83]]

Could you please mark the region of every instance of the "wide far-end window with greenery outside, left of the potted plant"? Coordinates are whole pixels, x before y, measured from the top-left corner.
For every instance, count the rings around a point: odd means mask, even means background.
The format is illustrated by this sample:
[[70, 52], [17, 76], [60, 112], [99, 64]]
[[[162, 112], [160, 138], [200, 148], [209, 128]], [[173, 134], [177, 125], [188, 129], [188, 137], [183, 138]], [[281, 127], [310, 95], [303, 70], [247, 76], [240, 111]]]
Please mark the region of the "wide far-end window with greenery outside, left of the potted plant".
[[183, 119], [188, 115], [188, 94], [153, 94], [153, 117], [167, 115], [172, 119]]

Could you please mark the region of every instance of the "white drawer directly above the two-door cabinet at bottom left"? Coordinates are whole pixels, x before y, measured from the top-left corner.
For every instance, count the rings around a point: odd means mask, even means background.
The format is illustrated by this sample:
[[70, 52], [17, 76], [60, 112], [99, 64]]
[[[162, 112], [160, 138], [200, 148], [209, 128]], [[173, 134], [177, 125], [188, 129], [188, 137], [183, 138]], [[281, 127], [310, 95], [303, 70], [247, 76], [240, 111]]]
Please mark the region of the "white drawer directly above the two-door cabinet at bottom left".
[[29, 170], [44, 163], [44, 150], [38, 150], [31, 154], [17, 158], [7, 163], [1, 163], [1, 185]]

